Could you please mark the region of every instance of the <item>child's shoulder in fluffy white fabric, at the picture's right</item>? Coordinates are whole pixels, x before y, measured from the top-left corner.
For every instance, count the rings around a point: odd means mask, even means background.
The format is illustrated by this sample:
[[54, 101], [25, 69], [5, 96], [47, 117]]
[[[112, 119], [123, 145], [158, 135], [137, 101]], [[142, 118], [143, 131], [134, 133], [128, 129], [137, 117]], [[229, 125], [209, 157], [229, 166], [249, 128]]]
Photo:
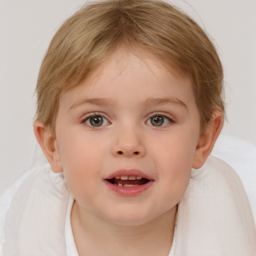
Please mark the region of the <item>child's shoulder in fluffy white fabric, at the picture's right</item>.
[[178, 203], [176, 247], [186, 255], [253, 255], [256, 231], [243, 185], [224, 161], [210, 156], [193, 169]]

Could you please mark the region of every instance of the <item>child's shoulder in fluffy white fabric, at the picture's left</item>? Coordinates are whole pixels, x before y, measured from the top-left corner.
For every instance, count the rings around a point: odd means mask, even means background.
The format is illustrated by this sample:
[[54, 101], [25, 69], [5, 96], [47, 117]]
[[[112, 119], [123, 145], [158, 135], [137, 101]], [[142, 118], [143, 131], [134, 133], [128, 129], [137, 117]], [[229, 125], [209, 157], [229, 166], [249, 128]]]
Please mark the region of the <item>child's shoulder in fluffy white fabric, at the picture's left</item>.
[[33, 255], [41, 250], [47, 254], [44, 245], [50, 243], [44, 244], [44, 240], [62, 244], [68, 195], [61, 174], [52, 172], [49, 164], [24, 173], [0, 199], [0, 251]]

